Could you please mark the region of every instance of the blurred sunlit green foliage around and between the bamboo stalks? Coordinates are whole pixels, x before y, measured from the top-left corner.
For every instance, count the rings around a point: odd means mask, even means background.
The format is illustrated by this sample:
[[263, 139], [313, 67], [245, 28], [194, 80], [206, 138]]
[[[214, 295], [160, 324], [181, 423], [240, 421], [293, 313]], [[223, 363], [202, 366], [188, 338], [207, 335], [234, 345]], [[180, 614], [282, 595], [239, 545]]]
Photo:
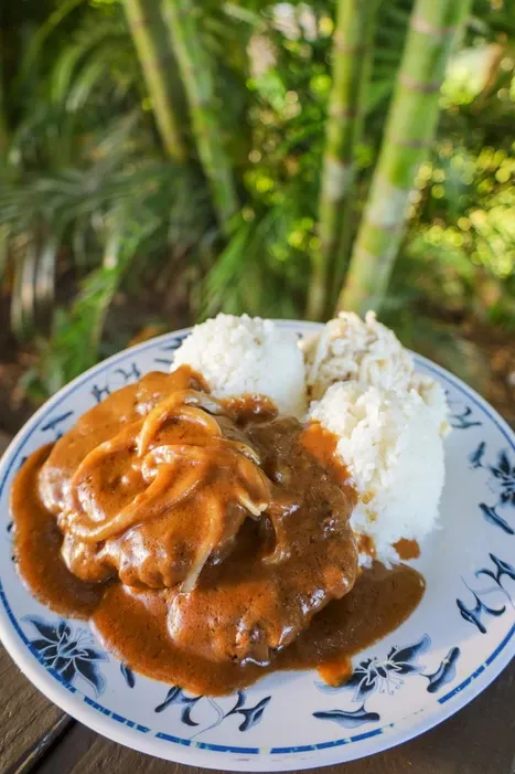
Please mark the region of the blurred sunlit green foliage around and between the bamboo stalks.
[[[8, 6], [0, 282], [12, 295], [13, 328], [35, 337], [40, 391], [55, 391], [96, 360], [118, 288], [136, 298], [138, 283], [158, 285], [170, 267], [192, 320], [219, 309], [302, 317], [319, 247], [334, 2], [202, 6], [202, 45], [240, 200], [224, 235], [179, 76], [174, 102], [190, 150], [182, 166], [162, 149], [120, 0]], [[384, 0], [379, 9], [355, 226], [411, 7]], [[476, 0], [384, 304], [385, 319], [416, 346], [432, 335], [444, 347], [448, 326], [470, 316], [515, 330], [514, 66], [515, 6]]]

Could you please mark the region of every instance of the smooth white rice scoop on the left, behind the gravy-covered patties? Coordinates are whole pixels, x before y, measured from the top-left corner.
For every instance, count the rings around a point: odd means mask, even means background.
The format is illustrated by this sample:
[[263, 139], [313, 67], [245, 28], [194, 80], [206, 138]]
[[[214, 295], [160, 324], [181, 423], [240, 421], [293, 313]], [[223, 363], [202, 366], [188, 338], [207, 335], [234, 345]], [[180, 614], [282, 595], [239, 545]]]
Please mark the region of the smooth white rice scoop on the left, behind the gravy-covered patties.
[[218, 315], [193, 328], [176, 350], [172, 369], [189, 364], [216, 397], [268, 395], [280, 413], [305, 413], [302, 352], [293, 331], [248, 315]]

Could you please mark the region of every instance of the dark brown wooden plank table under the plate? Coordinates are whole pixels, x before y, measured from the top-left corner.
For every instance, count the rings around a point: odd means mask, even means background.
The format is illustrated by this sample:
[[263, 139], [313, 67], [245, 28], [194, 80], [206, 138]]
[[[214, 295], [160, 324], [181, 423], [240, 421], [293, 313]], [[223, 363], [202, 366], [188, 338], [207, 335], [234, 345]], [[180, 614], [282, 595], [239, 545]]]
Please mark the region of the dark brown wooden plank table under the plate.
[[[0, 454], [8, 438], [0, 434]], [[193, 770], [110, 742], [62, 712], [0, 645], [0, 774], [190, 774]], [[515, 661], [438, 728], [325, 774], [515, 774]]]

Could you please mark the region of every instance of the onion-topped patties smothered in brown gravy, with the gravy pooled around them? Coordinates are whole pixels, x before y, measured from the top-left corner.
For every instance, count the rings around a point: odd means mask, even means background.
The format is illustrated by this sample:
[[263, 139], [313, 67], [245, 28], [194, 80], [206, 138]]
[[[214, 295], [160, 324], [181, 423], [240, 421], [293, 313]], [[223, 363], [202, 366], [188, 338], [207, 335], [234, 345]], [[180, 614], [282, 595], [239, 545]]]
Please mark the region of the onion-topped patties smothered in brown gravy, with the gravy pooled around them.
[[132, 669], [191, 691], [313, 667], [337, 683], [423, 580], [377, 563], [358, 575], [355, 491], [333, 452], [267, 399], [217, 401], [185, 365], [149, 373], [24, 463], [20, 573]]

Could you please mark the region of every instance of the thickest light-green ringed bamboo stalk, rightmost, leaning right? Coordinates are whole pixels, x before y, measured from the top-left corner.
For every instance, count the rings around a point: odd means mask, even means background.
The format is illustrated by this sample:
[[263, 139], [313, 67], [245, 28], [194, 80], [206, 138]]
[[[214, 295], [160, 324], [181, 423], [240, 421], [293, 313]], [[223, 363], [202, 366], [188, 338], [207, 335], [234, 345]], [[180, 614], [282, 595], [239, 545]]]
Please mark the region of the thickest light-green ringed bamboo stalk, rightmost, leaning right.
[[471, 0], [417, 0], [368, 200], [339, 308], [378, 308], [406, 227], [409, 194], [434, 137], [440, 86]]

